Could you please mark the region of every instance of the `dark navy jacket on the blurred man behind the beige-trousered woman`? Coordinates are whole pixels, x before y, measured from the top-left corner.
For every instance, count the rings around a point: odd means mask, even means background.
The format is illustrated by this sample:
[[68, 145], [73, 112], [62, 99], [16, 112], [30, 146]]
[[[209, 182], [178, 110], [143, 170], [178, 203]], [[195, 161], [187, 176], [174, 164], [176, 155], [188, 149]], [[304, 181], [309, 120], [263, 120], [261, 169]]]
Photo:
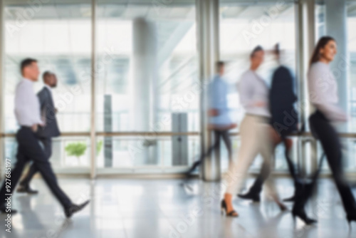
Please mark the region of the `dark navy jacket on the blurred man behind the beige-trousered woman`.
[[273, 73], [269, 93], [271, 124], [286, 136], [297, 130], [298, 116], [294, 108], [297, 96], [293, 90], [293, 77], [288, 68], [280, 66]]

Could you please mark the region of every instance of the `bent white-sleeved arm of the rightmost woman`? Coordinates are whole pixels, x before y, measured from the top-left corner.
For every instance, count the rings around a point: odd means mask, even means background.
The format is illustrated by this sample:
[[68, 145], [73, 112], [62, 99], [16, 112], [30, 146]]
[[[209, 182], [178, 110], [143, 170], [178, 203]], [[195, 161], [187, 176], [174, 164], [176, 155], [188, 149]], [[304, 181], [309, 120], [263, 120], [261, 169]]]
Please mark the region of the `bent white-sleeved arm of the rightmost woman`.
[[329, 120], [346, 121], [345, 112], [337, 105], [328, 103], [326, 90], [328, 87], [333, 87], [328, 77], [328, 72], [324, 72], [320, 67], [310, 68], [308, 73], [310, 103], [318, 108]]

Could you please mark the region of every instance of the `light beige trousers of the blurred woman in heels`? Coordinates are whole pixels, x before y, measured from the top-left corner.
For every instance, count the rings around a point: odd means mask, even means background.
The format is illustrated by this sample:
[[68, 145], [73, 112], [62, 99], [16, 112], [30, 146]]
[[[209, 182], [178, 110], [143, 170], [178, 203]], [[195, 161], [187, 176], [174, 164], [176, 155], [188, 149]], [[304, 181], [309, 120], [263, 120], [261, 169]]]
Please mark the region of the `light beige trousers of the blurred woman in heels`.
[[[271, 125], [266, 118], [256, 115], [245, 115], [241, 122], [240, 135], [241, 146], [237, 161], [230, 165], [226, 176], [227, 193], [236, 195], [240, 192], [247, 175], [248, 168], [255, 160], [258, 153], [263, 157], [264, 162], [268, 162], [272, 171], [273, 142], [271, 140]], [[269, 196], [277, 197], [273, 176], [268, 176], [266, 180], [266, 191]]]

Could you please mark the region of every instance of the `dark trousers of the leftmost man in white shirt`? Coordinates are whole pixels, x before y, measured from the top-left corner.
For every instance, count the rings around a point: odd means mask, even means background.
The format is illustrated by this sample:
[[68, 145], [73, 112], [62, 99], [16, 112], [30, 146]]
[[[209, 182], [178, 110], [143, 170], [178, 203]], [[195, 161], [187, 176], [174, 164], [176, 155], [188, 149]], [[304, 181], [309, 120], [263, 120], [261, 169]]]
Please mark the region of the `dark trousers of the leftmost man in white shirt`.
[[6, 191], [4, 181], [0, 190], [0, 201], [5, 202], [5, 194], [12, 194], [17, 182], [19, 182], [26, 163], [33, 161], [33, 165], [35, 165], [38, 172], [41, 173], [43, 180], [45, 180], [53, 195], [56, 196], [65, 209], [68, 208], [72, 202], [59, 187], [56, 175], [54, 175], [51, 164], [48, 162], [48, 158], [43, 152], [41, 145], [39, 145], [36, 135], [30, 128], [21, 127], [16, 134], [16, 140], [18, 143], [17, 162], [11, 170], [11, 189], [10, 191]]

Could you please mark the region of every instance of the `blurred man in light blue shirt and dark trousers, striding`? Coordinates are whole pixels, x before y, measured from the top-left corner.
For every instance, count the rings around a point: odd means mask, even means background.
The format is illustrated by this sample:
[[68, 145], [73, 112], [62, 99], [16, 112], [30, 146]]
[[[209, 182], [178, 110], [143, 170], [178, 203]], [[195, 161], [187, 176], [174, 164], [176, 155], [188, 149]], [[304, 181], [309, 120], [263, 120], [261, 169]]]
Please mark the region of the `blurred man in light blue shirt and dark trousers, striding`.
[[229, 130], [235, 128], [236, 124], [231, 122], [229, 118], [229, 108], [227, 106], [227, 94], [229, 92], [229, 84], [222, 78], [225, 71], [225, 63], [219, 61], [216, 63], [218, 73], [214, 76], [213, 81], [209, 84], [209, 129], [214, 130], [214, 144], [210, 146], [205, 155], [201, 155], [197, 162], [187, 172], [190, 175], [198, 165], [204, 160], [204, 157], [211, 155], [213, 150], [219, 150], [220, 138], [224, 140], [226, 148], [229, 152], [229, 161], [232, 161], [231, 140], [229, 138]]

